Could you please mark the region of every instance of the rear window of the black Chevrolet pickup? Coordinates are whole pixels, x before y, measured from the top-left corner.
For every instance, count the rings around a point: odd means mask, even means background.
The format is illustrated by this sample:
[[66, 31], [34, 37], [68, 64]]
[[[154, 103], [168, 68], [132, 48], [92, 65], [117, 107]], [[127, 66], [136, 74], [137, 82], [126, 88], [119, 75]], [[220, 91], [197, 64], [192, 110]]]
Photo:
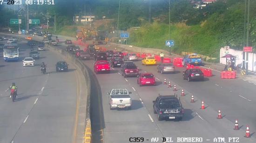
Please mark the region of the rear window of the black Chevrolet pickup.
[[181, 107], [178, 99], [161, 99], [159, 101], [159, 107], [161, 109], [172, 109]]

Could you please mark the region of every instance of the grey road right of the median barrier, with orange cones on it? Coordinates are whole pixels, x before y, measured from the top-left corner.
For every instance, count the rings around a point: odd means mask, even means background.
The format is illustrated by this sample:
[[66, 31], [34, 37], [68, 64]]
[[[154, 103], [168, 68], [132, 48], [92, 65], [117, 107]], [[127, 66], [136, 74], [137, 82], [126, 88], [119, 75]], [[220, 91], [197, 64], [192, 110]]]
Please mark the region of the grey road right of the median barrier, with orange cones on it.
[[[93, 74], [94, 60], [87, 60], [84, 63]], [[155, 74], [157, 85], [140, 87], [136, 83], [137, 78], [123, 78], [120, 75], [120, 68], [113, 68], [109, 74], [92, 75], [95, 77], [97, 89], [100, 90], [97, 95], [102, 102], [105, 143], [128, 143], [130, 137], [144, 137], [149, 140], [152, 137], [172, 137], [174, 142], [178, 141], [177, 137], [202, 137], [203, 143], [213, 143], [215, 137], [224, 137], [224, 142], [228, 143], [229, 137], [238, 137], [240, 143], [256, 142], [256, 117], [253, 114], [256, 109], [254, 84], [239, 78], [221, 79], [218, 71], [213, 71], [214, 76], [206, 77], [205, 81], [188, 82], [182, 79], [182, 71], [185, 68], [176, 68], [175, 74], [161, 74], [156, 72], [156, 66], [144, 66], [141, 65], [141, 61], [135, 64], [141, 69], [140, 72]], [[185, 97], [181, 97], [185, 108], [182, 121], [158, 121], [153, 113], [152, 101], [158, 93], [174, 94], [173, 88], [168, 89], [167, 85], [163, 84], [164, 78], [171, 81], [172, 86], [177, 85], [176, 93], [179, 96], [182, 89], [186, 93]], [[106, 93], [112, 88], [119, 87], [133, 92], [132, 110], [109, 110]], [[192, 94], [196, 103], [190, 103]], [[207, 107], [205, 110], [200, 109], [202, 100]], [[223, 119], [217, 119], [218, 109], [222, 110]], [[240, 130], [233, 130], [236, 119]], [[246, 125], [249, 125], [251, 138], [244, 137]], [[95, 138], [94, 142], [97, 143]]]

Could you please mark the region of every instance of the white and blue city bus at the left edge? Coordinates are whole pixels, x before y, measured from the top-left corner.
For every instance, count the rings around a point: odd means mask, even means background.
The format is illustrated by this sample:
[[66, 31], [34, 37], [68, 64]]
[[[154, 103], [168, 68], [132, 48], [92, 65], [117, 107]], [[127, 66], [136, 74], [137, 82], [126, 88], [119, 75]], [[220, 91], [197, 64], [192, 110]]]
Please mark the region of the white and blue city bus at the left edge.
[[18, 61], [19, 60], [19, 47], [17, 44], [4, 45], [4, 60], [5, 61]]

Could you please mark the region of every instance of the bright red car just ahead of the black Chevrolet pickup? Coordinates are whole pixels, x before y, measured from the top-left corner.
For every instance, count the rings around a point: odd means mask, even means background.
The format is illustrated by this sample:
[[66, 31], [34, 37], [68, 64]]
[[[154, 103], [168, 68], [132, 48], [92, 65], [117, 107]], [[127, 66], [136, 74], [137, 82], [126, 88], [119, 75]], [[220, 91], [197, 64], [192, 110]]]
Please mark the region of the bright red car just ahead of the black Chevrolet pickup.
[[141, 73], [137, 79], [137, 84], [142, 85], [155, 85], [155, 77], [152, 73]]

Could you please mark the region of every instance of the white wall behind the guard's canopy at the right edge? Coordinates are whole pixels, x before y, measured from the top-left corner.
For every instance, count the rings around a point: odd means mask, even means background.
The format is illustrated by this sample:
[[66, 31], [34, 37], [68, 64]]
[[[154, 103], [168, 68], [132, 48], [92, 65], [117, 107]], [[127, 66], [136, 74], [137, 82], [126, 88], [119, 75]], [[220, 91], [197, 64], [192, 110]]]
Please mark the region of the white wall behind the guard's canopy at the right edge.
[[[220, 63], [226, 65], [226, 58], [221, 58], [225, 54], [231, 54], [236, 56], [236, 65], [243, 63], [243, 51], [229, 49], [226, 51], [223, 47], [220, 50]], [[246, 54], [245, 54], [246, 60]], [[256, 71], [256, 53], [249, 52], [248, 56], [248, 69], [249, 71]]]

